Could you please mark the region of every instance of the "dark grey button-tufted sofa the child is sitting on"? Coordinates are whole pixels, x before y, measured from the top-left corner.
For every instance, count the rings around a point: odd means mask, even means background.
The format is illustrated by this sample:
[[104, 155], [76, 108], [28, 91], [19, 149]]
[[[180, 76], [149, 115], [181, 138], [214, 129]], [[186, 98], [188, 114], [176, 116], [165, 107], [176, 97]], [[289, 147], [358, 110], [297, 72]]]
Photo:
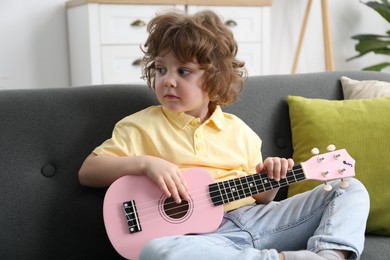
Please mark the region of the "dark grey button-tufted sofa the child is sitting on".
[[[264, 156], [291, 157], [286, 96], [342, 99], [342, 75], [390, 81], [374, 72], [250, 77], [226, 110], [261, 136]], [[77, 172], [115, 122], [155, 103], [145, 86], [0, 91], [0, 259], [120, 258], [103, 225], [105, 189], [80, 186]], [[389, 237], [367, 235], [362, 259], [390, 259], [389, 248]]]

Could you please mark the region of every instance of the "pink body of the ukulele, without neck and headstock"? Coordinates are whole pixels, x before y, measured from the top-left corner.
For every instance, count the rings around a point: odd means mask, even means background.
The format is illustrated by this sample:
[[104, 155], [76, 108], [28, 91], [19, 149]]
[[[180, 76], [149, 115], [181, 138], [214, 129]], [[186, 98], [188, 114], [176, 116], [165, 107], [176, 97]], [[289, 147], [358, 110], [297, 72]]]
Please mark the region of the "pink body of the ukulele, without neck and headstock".
[[[121, 256], [138, 259], [142, 247], [153, 238], [208, 233], [219, 227], [224, 208], [213, 205], [208, 190], [214, 179], [202, 169], [190, 169], [183, 174], [191, 200], [181, 204], [163, 195], [145, 176], [124, 176], [109, 187], [103, 205], [104, 225]], [[126, 213], [124, 204], [135, 207], [136, 212]]]

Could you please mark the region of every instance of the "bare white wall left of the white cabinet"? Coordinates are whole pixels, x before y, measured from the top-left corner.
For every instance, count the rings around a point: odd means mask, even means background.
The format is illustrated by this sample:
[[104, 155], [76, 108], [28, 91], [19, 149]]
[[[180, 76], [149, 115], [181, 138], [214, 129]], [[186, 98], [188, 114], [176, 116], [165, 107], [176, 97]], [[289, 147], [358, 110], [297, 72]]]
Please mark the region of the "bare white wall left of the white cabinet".
[[70, 85], [64, 0], [0, 0], [0, 89]]

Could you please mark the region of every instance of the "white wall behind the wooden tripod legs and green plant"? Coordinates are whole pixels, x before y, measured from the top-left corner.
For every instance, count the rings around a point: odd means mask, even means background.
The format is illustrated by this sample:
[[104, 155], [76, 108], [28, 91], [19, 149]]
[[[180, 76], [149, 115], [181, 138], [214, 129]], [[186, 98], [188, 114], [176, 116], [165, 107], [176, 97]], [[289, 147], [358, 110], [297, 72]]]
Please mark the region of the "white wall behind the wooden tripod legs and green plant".
[[[325, 71], [321, 1], [312, 1], [297, 73]], [[273, 0], [272, 55], [273, 73], [291, 73], [306, 0]], [[358, 0], [328, 0], [332, 32], [335, 70], [360, 70], [389, 59], [389, 56], [368, 54], [356, 60], [355, 44], [351, 36], [362, 33], [384, 34], [388, 22], [377, 12]]]

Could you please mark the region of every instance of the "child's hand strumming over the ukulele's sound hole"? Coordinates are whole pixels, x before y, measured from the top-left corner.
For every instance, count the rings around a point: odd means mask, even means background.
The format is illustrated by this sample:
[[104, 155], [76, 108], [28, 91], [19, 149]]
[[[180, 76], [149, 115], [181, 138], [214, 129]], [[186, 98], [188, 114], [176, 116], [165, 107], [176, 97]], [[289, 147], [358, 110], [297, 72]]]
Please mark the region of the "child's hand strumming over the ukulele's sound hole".
[[154, 181], [166, 196], [172, 196], [176, 203], [181, 203], [182, 198], [187, 201], [190, 199], [187, 183], [175, 164], [149, 157], [142, 173]]

